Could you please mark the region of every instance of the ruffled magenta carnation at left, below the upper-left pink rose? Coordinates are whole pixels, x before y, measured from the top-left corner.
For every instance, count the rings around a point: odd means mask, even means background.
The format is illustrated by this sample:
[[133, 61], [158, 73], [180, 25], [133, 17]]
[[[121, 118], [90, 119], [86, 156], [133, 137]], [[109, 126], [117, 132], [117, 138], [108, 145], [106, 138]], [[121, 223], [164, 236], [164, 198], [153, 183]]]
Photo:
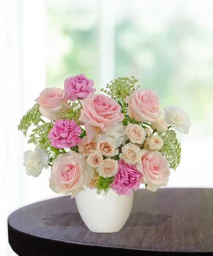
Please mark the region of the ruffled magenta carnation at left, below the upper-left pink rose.
[[70, 148], [76, 146], [81, 138], [77, 136], [81, 133], [81, 128], [74, 120], [59, 119], [54, 123], [47, 137], [50, 139], [51, 146], [55, 148]]

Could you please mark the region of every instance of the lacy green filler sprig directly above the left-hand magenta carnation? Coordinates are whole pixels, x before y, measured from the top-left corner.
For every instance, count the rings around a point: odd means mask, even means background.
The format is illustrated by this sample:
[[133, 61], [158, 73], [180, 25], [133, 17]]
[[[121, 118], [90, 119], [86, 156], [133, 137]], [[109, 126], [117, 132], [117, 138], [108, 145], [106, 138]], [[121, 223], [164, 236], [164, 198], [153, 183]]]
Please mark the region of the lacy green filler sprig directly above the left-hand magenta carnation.
[[[65, 104], [61, 105], [65, 107]], [[55, 117], [57, 119], [70, 119], [74, 120], [77, 125], [81, 125], [81, 121], [79, 121], [79, 117], [81, 115], [81, 105], [79, 102], [69, 102], [69, 108], [66, 108], [64, 111], [56, 112]]]

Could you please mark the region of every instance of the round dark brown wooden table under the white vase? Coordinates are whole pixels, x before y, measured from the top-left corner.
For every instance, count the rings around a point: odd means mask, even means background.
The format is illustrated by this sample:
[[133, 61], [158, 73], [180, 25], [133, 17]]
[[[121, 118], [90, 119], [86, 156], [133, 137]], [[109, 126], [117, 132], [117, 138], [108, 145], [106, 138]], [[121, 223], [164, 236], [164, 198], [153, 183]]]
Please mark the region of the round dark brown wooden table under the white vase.
[[12, 249], [19, 256], [213, 255], [213, 189], [138, 189], [117, 233], [89, 231], [70, 198], [14, 211], [8, 218]]

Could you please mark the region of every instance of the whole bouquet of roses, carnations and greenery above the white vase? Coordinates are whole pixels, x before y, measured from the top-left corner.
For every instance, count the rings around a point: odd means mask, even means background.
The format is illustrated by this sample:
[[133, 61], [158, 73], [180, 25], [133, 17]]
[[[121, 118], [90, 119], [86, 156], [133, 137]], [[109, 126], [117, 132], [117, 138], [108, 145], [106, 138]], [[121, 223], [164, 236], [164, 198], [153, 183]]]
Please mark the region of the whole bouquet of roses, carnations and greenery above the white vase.
[[[38, 177], [51, 167], [49, 186], [73, 198], [84, 186], [106, 194], [131, 195], [140, 184], [156, 191], [166, 186], [170, 169], [180, 163], [180, 143], [191, 126], [177, 106], [164, 108], [153, 89], [139, 89], [131, 78], [118, 78], [95, 94], [85, 74], [66, 78], [64, 89], [44, 89], [18, 129], [34, 152], [24, 153], [27, 175]], [[48, 122], [44, 118], [48, 118]]]

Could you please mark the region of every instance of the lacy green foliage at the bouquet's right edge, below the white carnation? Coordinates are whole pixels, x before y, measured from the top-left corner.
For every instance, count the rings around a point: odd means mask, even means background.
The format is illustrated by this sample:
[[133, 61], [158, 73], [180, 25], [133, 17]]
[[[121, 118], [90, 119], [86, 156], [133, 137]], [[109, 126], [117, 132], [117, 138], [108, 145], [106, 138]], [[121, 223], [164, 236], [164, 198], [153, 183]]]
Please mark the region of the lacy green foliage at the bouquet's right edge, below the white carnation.
[[181, 147], [177, 140], [176, 133], [173, 130], [167, 130], [165, 133], [158, 133], [164, 139], [163, 147], [158, 150], [169, 162], [169, 168], [175, 169], [180, 164]]

